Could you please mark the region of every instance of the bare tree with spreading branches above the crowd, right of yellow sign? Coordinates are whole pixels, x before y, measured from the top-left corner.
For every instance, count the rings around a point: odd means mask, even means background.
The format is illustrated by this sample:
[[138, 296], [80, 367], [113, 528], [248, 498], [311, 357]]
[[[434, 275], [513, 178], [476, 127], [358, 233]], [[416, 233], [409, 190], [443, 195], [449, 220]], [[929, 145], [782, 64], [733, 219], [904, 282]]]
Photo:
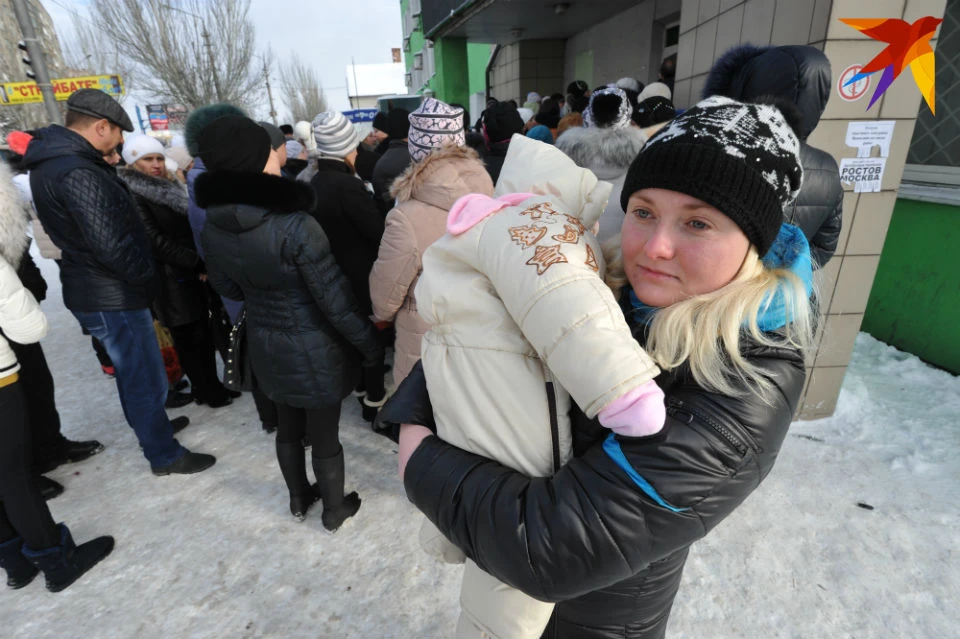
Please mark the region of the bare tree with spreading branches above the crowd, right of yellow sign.
[[[260, 100], [250, 0], [92, 0], [101, 43], [137, 70], [139, 88], [196, 108]], [[101, 45], [102, 46], [102, 45]]]

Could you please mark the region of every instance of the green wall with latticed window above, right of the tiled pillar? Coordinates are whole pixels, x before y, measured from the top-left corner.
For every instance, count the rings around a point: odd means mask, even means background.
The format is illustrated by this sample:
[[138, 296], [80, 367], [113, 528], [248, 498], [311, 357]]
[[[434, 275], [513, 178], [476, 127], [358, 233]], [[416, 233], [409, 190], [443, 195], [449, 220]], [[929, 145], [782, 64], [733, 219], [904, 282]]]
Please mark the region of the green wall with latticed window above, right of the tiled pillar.
[[937, 113], [920, 107], [863, 330], [960, 375], [960, 2], [936, 50]]

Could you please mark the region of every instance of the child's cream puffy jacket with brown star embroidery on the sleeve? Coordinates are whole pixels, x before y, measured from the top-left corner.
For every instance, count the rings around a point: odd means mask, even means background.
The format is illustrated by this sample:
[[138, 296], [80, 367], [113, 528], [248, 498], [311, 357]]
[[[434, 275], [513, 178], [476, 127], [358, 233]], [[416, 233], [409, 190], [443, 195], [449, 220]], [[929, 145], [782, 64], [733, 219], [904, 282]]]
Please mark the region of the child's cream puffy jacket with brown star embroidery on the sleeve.
[[[416, 288], [432, 326], [422, 359], [441, 438], [549, 475], [571, 456], [570, 395], [592, 417], [658, 374], [600, 276], [589, 229], [610, 189], [518, 135], [497, 184], [502, 201], [485, 198], [480, 221], [477, 201], [451, 211]], [[516, 193], [539, 195], [505, 195]]]

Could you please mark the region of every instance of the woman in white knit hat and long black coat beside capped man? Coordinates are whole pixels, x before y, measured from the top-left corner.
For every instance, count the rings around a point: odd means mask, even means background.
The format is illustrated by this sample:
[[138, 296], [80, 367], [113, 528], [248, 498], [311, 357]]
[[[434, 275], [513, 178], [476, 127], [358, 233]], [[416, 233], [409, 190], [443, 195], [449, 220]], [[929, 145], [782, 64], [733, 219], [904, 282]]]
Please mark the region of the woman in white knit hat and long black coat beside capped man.
[[127, 167], [119, 175], [137, 202], [162, 279], [152, 305], [154, 314], [170, 329], [177, 359], [190, 378], [194, 401], [212, 408], [226, 406], [238, 394], [228, 391], [217, 377], [203, 282], [205, 266], [187, 218], [186, 188], [167, 177], [166, 158], [158, 140], [130, 136], [123, 155]]

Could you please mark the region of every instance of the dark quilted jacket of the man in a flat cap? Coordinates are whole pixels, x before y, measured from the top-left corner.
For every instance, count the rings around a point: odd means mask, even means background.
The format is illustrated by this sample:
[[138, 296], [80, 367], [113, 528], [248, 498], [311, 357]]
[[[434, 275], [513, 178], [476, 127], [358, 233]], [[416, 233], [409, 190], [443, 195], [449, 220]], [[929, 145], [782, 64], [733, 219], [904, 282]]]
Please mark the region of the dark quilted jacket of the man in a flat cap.
[[53, 125], [24, 164], [37, 217], [63, 251], [63, 302], [74, 311], [144, 309], [159, 280], [150, 241], [126, 185], [83, 137]]

